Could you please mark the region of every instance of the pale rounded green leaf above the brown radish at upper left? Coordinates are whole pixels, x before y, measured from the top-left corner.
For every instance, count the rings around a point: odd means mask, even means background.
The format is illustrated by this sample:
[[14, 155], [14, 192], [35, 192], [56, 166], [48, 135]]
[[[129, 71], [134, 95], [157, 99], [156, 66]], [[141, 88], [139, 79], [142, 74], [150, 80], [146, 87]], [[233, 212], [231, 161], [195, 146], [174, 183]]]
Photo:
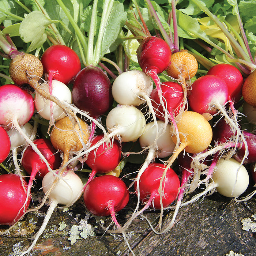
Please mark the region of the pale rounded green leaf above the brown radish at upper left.
[[45, 29], [56, 21], [48, 19], [42, 12], [30, 12], [20, 23], [19, 34], [25, 43], [31, 42], [27, 52], [42, 46], [46, 41]]

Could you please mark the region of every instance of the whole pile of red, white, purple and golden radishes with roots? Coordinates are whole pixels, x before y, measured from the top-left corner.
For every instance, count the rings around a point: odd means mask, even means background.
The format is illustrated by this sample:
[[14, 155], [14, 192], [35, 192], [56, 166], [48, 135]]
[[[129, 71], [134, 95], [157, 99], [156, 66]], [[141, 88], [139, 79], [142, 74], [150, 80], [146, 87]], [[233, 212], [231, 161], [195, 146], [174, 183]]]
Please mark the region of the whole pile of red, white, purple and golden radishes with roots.
[[[104, 10], [113, 4], [107, 2]], [[152, 4], [147, 3], [158, 23]], [[139, 36], [138, 30], [128, 28]], [[255, 124], [255, 71], [246, 77], [234, 65], [217, 64], [195, 78], [197, 60], [178, 49], [176, 35], [173, 44], [163, 30], [162, 36], [145, 32], [138, 38], [141, 70], [120, 69], [118, 75], [99, 67], [99, 56], [90, 57], [90, 50], [82, 68], [78, 54], [68, 46], [52, 45], [39, 59], [19, 52], [8, 35], [0, 37], [1, 48], [11, 58], [14, 82], [0, 86], [0, 163], [15, 166], [13, 172], [0, 176], [0, 224], [13, 225], [46, 200], [49, 204], [41, 228], [22, 255], [33, 249], [57, 205], [71, 206], [82, 195], [87, 210], [111, 215], [117, 229], [108, 231], [122, 233], [127, 241], [125, 230], [148, 208], [160, 210], [160, 230], [154, 231], [165, 233], [181, 206], [214, 191], [237, 198], [248, 188], [249, 177], [256, 182], [256, 136], [242, 131], [237, 110], [244, 101], [244, 113]], [[89, 33], [89, 45], [93, 37]], [[161, 82], [160, 74], [168, 81]], [[38, 126], [46, 127], [48, 139], [39, 138], [43, 133]], [[141, 151], [124, 152], [122, 147], [129, 142], [139, 142]], [[120, 166], [133, 153], [146, 153], [145, 161], [125, 184]], [[85, 184], [76, 174], [84, 165], [91, 170]], [[23, 170], [29, 179], [23, 177]], [[45, 197], [40, 206], [29, 208], [35, 179], [41, 180]], [[206, 186], [203, 192], [182, 202], [185, 193], [202, 185]], [[116, 213], [133, 192], [136, 207], [121, 226]], [[166, 208], [175, 211], [161, 230]]]

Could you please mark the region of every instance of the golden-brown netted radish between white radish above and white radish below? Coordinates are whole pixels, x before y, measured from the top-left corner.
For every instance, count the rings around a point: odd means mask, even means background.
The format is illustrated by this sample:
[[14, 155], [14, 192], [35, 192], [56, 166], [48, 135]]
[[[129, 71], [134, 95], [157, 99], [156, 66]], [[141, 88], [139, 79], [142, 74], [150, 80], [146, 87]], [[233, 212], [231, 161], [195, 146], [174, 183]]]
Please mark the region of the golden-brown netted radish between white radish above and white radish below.
[[63, 152], [61, 167], [65, 167], [69, 156], [86, 147], [88, 139], [89, 126], [82, 119], [79, 124], [73, 125], [69, 117], [66, 116], [55, 123], [50, 141], [54, 148]]

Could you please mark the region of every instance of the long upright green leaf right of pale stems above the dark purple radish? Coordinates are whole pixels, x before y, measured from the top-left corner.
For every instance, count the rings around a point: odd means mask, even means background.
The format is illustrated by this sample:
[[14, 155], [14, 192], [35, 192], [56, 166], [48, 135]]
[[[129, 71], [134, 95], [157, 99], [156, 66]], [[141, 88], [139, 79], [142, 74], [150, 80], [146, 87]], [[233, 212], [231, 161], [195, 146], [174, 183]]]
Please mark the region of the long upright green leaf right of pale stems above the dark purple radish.
[[101, 57], [108, 51], [109, 47], [116, 41], [121, 27], [124, 26], [127, 18], [124, 6], [119, 1], [114, 1], [113, 10], [110, 14], [106, 30], [103, 35], [101, 46]]

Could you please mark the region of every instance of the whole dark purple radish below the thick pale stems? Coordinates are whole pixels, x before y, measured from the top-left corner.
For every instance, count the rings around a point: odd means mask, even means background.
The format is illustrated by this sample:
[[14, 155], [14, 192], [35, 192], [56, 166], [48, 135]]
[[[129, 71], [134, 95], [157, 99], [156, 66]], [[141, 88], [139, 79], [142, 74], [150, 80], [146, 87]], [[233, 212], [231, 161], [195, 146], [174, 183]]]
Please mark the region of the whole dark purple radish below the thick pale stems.
[[113, 104], [111, 83], [105, 72], [98, 67], [83, 68], [74, 80], [72, 101], [79, 109], [99, 117]]

